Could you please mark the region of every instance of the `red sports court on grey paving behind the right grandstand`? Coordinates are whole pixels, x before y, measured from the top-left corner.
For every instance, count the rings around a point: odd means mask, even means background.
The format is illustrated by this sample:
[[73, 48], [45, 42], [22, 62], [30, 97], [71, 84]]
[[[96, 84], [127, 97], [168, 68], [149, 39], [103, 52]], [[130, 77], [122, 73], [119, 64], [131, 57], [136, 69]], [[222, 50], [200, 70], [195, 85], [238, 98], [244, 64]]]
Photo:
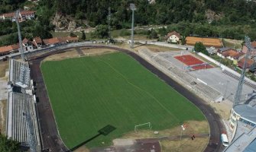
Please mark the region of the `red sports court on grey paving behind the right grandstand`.
[[185, 65], [191, 66], [190, 68], [193, 68], [193, 70], [212, 68], [212, 65], [208, 65], [206, 62], [196, 59], [193, 55], [180, 55], [175, 56], [174, 58], [183, 62]]

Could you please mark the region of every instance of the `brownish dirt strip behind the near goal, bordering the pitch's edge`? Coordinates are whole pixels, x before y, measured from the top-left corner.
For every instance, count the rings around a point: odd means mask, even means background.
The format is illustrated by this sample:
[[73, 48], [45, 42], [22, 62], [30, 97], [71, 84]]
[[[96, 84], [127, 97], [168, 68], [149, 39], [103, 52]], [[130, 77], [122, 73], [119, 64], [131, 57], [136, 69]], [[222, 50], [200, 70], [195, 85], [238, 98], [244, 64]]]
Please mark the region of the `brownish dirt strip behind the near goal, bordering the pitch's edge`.
[[[203, 133], [209, 133], [209, 125], [208, 122], [198, 122], [198, 121], [189, 121], [185, 122], [186, 124], [186, 130], [182, 131], [183, 135], [196, 135], [196, 134], [203, 134]], [[154, 131], [137, 131], [137, 132], [130, 132], [127, 135], [125, 135], [123, 138], [126, 139], [139, 139], [139, 138], [160, 138], [160, 137], [166, 137], [166, 136], [173, 136], [173, 135], [180, 135], [181, 132], [181, 126], [177, 126], [175, 128], [165, 129], [163, 131], [158, 131], [158, 134], [155, 135]]]

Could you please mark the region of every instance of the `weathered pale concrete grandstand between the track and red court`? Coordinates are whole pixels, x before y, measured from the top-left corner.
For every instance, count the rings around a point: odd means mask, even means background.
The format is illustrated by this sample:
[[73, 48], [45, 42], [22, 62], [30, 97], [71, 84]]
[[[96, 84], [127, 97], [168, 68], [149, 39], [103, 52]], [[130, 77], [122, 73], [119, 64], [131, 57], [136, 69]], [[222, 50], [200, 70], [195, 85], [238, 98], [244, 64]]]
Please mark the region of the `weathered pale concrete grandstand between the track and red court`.
[[175, 65], [169, 62], [164, 57], [157, 55], [157, 53], [151, 52], [148, 49], [141, 49], [139, 53], [147, 59], [149, 62], [154, 62], [154, 65], [159, 65], [160, 68], [163, 68], [167, 71], [173, 78], [176, 78], [177, 81], [183, 84], [184, 87], [189, 87], [194, 92], [203, 97], [205, 100], [219, 102], [222, 100], [222, 94], [219, 91], [212, 89], [206, 84], [196, 80], [192, 75], [180, 71]]

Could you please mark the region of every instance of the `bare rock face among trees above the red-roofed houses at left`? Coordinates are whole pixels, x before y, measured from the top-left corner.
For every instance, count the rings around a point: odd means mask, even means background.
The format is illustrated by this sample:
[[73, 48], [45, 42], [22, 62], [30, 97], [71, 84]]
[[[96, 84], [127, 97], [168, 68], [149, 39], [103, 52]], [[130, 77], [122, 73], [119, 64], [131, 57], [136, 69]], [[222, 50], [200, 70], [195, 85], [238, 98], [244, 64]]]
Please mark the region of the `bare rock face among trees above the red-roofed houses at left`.
[[53, 25], [55, 25], [55, 31], [74, 31], [77, 28], [76, 22], [71, 17], [58, 13], [53, 18]]

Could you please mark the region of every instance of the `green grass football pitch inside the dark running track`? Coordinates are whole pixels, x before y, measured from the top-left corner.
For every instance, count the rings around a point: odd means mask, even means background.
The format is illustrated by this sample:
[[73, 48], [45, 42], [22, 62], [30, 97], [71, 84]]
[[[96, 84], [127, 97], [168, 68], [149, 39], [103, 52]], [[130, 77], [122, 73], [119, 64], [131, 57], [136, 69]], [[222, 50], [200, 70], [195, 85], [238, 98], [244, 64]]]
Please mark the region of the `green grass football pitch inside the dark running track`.
[[117, 129], [88, 147], [109, 145], [145, 122], [159, 131], [205, 120], [189, 100], [121, 52], [43, 62], [41, 70], [60, 136], [70, 148], [105, 125]]

